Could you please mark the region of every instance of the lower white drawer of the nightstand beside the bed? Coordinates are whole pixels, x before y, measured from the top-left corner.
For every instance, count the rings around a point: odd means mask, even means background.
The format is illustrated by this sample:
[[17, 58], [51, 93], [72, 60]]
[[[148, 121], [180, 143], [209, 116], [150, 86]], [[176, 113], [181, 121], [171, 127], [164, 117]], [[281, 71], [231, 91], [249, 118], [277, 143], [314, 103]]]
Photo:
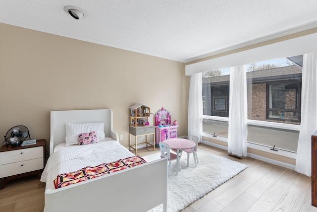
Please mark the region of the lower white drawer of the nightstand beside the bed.
[[[43, 149], [42, 149], [43, 151]], [[44, 168], [43, 157], [16, 163], [0, 165], [0, 178]]]

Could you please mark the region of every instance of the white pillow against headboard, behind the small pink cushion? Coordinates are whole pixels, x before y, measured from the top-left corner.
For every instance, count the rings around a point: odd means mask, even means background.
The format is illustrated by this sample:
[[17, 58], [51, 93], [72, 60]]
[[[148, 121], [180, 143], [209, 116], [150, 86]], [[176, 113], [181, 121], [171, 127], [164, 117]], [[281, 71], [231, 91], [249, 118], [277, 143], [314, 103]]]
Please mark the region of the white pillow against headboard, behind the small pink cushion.
[[105, 139], [105, 123], [66, 123], [66, 146], [79, 144], [79, 134], [90, 133], [95, 131], [98, 141]]

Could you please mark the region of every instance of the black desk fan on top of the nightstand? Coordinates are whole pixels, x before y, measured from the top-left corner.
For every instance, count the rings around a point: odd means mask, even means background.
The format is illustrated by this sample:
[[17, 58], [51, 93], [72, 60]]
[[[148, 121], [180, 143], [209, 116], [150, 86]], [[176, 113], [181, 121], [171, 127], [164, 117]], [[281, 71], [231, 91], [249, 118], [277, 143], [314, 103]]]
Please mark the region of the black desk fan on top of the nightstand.
[[28, 137], [31, 140], [29, 129], [23, 125], [17, 125], [6, 132], [4, 140], [6, 146], [11, 144], [12, 147], [17, 147], [21, 141], [26, 140]]

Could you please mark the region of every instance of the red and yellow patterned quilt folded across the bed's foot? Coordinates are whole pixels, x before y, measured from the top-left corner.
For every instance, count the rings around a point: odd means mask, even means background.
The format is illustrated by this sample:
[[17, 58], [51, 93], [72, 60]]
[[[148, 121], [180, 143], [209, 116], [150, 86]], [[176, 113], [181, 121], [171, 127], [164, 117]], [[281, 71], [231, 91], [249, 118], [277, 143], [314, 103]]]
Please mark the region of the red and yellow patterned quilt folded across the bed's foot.
[[87, 166], [78, 171], [60, 174], [57, 175], [57, 178], [54, 180], [55, 189], [100, 177], [112, 172], [124, 170], [126, 168], [137, 166], [146, 162], [147, 161], [145, 161], [140, 156], [133, 156], [111, 163], [103, 163], [95, 167]]

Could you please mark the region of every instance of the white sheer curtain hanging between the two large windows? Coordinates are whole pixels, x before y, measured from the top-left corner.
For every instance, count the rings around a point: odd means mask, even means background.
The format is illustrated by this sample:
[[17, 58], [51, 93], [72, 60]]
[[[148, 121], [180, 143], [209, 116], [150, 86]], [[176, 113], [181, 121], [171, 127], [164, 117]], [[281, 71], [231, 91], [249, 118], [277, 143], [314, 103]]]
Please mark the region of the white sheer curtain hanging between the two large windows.
[[246, 66], [230, 68], [228, 152], [247, 156], [247, 73]]

